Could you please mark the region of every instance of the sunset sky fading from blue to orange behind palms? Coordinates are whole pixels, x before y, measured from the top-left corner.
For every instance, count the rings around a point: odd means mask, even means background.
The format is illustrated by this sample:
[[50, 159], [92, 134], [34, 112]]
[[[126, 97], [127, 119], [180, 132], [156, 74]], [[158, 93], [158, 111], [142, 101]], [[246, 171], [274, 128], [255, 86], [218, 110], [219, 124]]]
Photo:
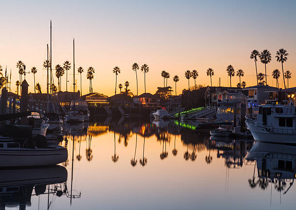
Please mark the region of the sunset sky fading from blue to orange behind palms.
[[[296, 2], [295, 1], [2, 1], [0, 13], [0, 65], [12, 69], [12, 90], [19, 78], [16, 62], [22, 60], [27, 71], [36, 66], [36, 82], [46, 91], [46, 44], [50, 42], [50, 20], [53, 26], [53, 66], [69, 60], [73, 66], [75, 38], [75, 67], [82, 66], [82, 92], [88, 93], [86, 71], [94, 67], [93, 90], [111, 96], [115, 89], [112, 69], [118, 66], [118, 83], [130, 82], [136, 93], [136, 78], [132, 64], [147, 63], [147, 92], [154, 94], [163, 86], [160, 73], [178, 75], [177, 93], [188, 87], [186, 70], [197, 70], [197, 84], [209, 85], [207, 68], [213, 68], [213, 86], [229, 85], [226, 67], [232, 64], [243, 69], [247, 86], [256, 84], [255, 64], [250, 59], [253, 49], [268, 49], [272, 60], [267, 64], [267, 84], [275, 86], [271, 72], [281, 70], [275, 53], [285, 48], [288, 60], [284, 70], [292, 72], [289, 87], [296, 86]], [[264, 64], [257, 63], [264, 73]], [[77, 73], [77, 71], [76, 71]], [[69, 72], [68, 90], [73, 91], [73, 69]], [[80, 89], [80, 76], [77, 74]], [[282, 77], [281, 77], [282, 78]], [[26, 75], [33, 90], [33, 75]], [[236, 86], [238, 77], [232, 79]], [[55, 77], [57, 85], [57, 78]], [[144, 74], [138, 72], [139, 94], [144, 92]], [[191, 86], [194, 84], [190, 80]], [[280, 87], [282, 79], [280, 80]], [[62, 77], [62, 90], [66, 76]], [[69, 88], [70, 87], [70, 88]], [[77, 89], [78, 90], [78, 89]], [[119, 91], [119, 89], [118, 89]]]

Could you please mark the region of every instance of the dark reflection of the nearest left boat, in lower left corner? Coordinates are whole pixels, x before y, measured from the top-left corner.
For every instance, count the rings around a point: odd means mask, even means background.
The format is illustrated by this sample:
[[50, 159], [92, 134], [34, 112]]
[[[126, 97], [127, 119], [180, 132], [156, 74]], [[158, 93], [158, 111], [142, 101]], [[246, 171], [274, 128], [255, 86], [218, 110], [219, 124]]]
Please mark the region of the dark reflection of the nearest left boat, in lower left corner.
[[0, 170], [0, 210], [5, 207], [25, 210], [31, 206], [34, 195], [67, 195], [66, 181], [67, 169], [60, 165]]

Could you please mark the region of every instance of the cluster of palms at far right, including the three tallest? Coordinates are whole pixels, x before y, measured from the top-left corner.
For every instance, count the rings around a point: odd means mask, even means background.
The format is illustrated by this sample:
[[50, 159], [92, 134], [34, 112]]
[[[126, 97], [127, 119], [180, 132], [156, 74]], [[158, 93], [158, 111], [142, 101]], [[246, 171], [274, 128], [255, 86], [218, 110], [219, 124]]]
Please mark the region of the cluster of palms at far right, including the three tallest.
[[[282, 70], [282, 76], [283, 76], [283, 82], [284, 82], [284, 88], [286, 89], [286, 84], [285, 84], [285, 78], [287, 79], [288, 81], [288, 88], [289, 88], [289, 79], [291, 78], [292, 76], [292, 73], [290, 71], [286, 71], [284, 73], [284, 70], [283, 70], [283, 63], [285, 61], [288, 60], [288, 52], [287, 50], [281, 48], [279, 49], [277, 52], [276, 52], [276, 56], [275, 58], [277, 59], [278, 62], [281, 63], [281, 70]], [[257, 73], [257, 61], [258, 61], [258, 58], [260, 59], [260, 61], [262, 63], [264, 63], [265, 65], [265, 75], [263, 75], [262, 73]], [[258, 50], [254, 49], [252, 52], [251, 52], [251, 56], [250, 56], [250, 59], [253, 59], [254, 62], [255, 62], [255, 68], [256, 68], [256, 78], [257, 78], [257, 85], [260, 85], [260, 84], [263, 84], [264, 85], [264, 78], [262, 79], [262, 76], [265, 76], [265, 85], [267, 85], [267, 79], [266, 79], [266, 64], [269, 63], [271, 61], [271, 53], [269, 52], [269, 50], [265, 49], [263, 50], [261, 53], [259, 53]], [[275, 69], [273, 72], [272, 72], [272, 76], [273, 78], [275, 78], [277, 80], [277, 87], [279, 87], [279, 82], [278, 82], [278, 79], [280, 78], [280, 71], [278, 69]], [[261, 79], [261, 80], [260, 80]], [[260, 82], [258, 82], [258, 80]]]

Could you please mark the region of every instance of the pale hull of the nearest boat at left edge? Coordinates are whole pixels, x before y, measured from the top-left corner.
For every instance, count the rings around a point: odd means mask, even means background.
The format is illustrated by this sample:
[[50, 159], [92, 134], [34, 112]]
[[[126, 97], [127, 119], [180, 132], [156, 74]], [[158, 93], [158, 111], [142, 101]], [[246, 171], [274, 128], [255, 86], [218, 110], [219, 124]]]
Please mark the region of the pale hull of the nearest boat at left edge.
[[0, 150], [0, 167], [57, 165], [68, 158], [67, 149]]

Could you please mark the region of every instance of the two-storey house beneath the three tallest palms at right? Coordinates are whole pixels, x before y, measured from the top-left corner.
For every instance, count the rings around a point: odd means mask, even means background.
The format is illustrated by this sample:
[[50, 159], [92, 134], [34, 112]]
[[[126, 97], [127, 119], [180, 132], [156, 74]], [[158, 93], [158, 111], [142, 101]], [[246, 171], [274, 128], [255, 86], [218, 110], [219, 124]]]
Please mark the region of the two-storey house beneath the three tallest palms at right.
[[265, 102], [278, 102], [279, 91], [280, 89], [278, 88], [266, 85], [255, 85], [243, 89], [248, 103], [253, 103], [256, 105], [265, 104]]

